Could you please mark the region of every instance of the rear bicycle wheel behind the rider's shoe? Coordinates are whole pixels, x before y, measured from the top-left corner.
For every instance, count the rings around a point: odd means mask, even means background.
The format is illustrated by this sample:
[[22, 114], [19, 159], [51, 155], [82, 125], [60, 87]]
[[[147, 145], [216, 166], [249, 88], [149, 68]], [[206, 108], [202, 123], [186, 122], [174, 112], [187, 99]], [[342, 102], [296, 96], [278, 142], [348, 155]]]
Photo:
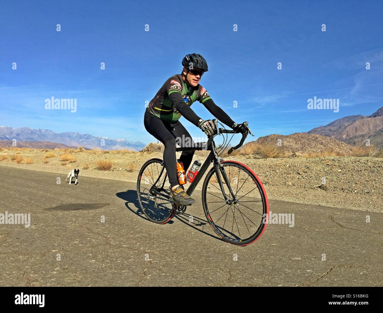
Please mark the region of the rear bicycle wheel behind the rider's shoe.
[[175, 210], [169, 194], [164, 161], [157, 158], [146, 161], [138, 173], [137, 197], [142, 212], [150, 221], [165, 224], [173, 217]]

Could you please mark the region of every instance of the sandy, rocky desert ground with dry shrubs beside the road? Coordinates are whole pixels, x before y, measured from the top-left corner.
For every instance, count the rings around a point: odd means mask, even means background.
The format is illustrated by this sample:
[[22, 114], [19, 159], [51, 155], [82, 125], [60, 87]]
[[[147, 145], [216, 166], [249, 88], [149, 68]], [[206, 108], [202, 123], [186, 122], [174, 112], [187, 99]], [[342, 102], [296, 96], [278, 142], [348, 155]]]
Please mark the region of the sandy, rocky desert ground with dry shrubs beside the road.
[[[47, 152], [56, 156], [44, 159]], [[10, 160], [18, 153], [30, 158], [33, 164], [20, 164]], [[142, 164], [149, 158], [162, 158], [161, 152], [153, 153], [103, 153], [71, 152], [77, 158], [74, 163], [62, 163], [59, 156], [64, 152], [54, 150], [11, 150], [0, 151], [0, 165], [30, 170], [61, 173], [64, 180], [70, 169], [80, 168], [81, 176], [116, 179], [136, 182]], [[204, 160], [203, 152], [194, 160]], [[4, 156], [3, 156], [4, 155]], [[179, 156], [180, 153], [177, 153]], [[2, 157], [3, 156], [3, 157]], [[322, 157], [322, 158], [267, 158], [254, 159], [248, 155], [224, 157], [246, 164], [264, 184], [268, 199], [319, 204], [329, 207], [349, 208], [368, 212], [383, 212], [383, 159], [372, 157]], [[47, 160], [48, 163], [43, 163]], [[95, 169], [96, 160], [111, 160], [110, 171]], [[194, 161], [193, 160], [193, 161]], [[85, 163], [89, 164], [88, 169]], [[63, 164], [63, 165], [62, 165]], [[199, 187], [201, 187], [201, 180]], [[198, 187], [197, 187], [198, 189]]]

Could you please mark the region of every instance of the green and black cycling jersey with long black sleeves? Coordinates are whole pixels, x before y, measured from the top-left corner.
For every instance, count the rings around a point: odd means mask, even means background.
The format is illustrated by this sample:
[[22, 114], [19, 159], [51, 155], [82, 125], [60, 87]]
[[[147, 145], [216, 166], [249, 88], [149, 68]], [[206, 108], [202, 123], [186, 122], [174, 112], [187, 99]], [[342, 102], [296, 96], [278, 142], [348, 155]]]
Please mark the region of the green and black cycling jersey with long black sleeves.
[[221, 122], [231, 127], [234, 121], [210, 98], [209, 93], [200, 84], [188, 85], [182, 74], [170, 77], [150, 101], [146, 110], [165, 122], [175, 123], [181, 116], [198, 127], [201, 120], [190, 108], [193, 102], [199, 101]]

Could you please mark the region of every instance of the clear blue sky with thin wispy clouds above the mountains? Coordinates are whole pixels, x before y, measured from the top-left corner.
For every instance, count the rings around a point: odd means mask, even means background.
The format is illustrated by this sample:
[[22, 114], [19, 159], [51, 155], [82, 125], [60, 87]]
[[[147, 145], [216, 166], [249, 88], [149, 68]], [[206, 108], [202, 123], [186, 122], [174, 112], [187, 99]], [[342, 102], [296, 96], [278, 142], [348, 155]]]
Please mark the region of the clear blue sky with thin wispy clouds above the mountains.
[[[255, 137], [246, 141], [383, 106], [381, 1], [191, 3], [2, 1], [0, 124], [155, 142], [143, 125], [145, 101], [192, 52], [208, 62], [201, 85], [214, 102], [249, 121]], [[77, 112], [46, 110], [52, 96], [77, 99]], [[339, 112], [308, 110], [314, 96], [338, 98]], [[191, 108], [213, 117], [198, 102]]]

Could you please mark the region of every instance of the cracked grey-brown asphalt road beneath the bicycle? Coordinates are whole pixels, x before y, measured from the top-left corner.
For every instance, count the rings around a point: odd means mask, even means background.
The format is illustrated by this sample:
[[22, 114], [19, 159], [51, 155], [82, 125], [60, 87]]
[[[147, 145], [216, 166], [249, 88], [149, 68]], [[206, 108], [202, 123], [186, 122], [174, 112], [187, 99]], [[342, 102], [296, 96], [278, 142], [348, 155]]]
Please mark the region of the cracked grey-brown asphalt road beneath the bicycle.
[[0, 224], [1, 286], [383, 285], [382, 213], [269, 201], [272, 213], [295, 214], [294, 227], [269, 224], [237, 247], [211, 230], [199, 191], [157, 225], [134, 183], [80, 175], [69, 186], [63, 174], [5, 166], [0, 177], [0, 213], [31, 214], [28, 228]]

